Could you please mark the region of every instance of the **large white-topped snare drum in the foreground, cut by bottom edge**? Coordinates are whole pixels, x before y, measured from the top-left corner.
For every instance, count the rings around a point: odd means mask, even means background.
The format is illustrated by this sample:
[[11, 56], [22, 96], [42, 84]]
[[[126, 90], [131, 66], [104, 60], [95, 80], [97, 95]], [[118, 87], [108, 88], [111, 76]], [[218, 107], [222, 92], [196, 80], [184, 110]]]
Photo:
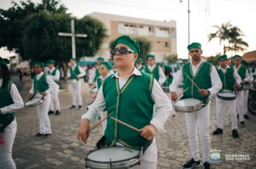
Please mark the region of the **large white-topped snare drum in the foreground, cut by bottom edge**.
[[126, 147], [93, 150], [86, 157], [86, 168], [132, 168], [140, 165], [140, 151]]

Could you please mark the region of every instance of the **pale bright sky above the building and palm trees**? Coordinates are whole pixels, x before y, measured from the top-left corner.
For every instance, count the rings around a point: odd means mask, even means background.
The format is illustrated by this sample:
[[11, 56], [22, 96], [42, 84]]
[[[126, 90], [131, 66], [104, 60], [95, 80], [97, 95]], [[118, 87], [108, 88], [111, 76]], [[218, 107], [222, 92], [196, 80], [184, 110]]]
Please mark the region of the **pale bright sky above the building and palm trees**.
[[[35, 3], [39, 0], [32, 0]], [[174, 20], [177, 24], [178, 57], [188, 57], [188, 1], [190, 1], [190, 42], [202, 44], [203, 55], [222, 54], [219, 39], [208, 42], [214, 25], [231, 22], [244, 32], [248, 51], [256, 50], [255, 0], [61, 0], [68, 13], [81, 18], [92, 12], [118, 14], [157, 21]], [[11, 0], [0, 0], [0, 9], [8, 9]], [[228, 53], [230, 57], [231, 54]], [[243, 53], [238, 53], [243, 54]]]

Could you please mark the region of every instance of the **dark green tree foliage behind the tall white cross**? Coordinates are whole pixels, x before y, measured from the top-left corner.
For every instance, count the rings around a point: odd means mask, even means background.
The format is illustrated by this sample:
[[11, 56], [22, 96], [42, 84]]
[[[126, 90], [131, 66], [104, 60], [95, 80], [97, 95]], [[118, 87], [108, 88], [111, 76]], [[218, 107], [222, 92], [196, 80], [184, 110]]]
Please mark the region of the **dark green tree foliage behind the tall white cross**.
[[68, 62], [72, 53], [71, 37], [59, 37], [58, 32], [70, 33], [71, 19], [75, 19], [76, 34], [88, 35], [87, 38], [76, 37], [78, 59], [96, 54], [106, 37], [106, 29], [100, 21], [90, 16], [73, 18], [57, 0], [42, 0], [41, 4], [13, 2], [10, 9], [1, 9], [0, 14], [0, 23], [4, 25], [0, 26], [0, 47], [15, 49], [27, 60]]

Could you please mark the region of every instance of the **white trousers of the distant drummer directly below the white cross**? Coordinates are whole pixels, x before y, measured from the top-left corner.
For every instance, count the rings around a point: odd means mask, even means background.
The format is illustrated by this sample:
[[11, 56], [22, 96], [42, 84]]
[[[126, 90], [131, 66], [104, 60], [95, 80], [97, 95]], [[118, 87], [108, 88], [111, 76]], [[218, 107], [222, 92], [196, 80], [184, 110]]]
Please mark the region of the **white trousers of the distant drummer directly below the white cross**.
[[82, 95], [81, 95], [81, 81], [74, 82], [71, 84], [72, 88], [72, 105], [82, 105]]

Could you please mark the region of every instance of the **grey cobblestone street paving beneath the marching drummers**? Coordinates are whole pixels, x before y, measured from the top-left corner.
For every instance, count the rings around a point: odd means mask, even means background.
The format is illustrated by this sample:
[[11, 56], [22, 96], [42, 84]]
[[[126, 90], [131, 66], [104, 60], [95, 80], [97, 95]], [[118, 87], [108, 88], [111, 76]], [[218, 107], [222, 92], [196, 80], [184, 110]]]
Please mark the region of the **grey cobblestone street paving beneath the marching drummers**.
[[[22, 85], [23, 100], [31, 83], [29, 79]], [[61, 115], [50, 115], [52, 137], [42, 139], [34, 137], [38, 132], [38, 118], [35, 107], [23, 108], [17, 112], [17, 137], [13, 148], [13, 158], [18, 169], [29, 168], [85, 168], [84, 158], [89, 150], [93, 150], [101, 137], [101, 126], [90, 134], [88, 144], [81, 143], [76, 138], [81, 115], [86, 112], [86, 105], [91, 102], [88, 84], [83, 86], [83, 110], [69, 110], [71, 94], [67, 91], [59, 93]], [[221, 150], [226, 154], [250, 155], [250, 161], [226, 161], [223, 165], [211, 165], [212, 168], [255, 168], [256, 169], [256, 116], [250, 115], [246, 127], [239, 127], [239, 139], [232, 138], [229, 125], [229, 113], [224, 110], [224, 134], [211, 135], [211, 149]], [[215, 130], [215, 103], [211, 102], [211, 132]], [[167, 132], [157, 133], [158, 164], [157, 168], [181, 168], [190, 160], [190, 150], [186, 125], [183, 114], [170, 117], [165, 124]], [[200, 142], [200, 141], [199, 141]], [[199, 167], [202, 168], [202, 167]]]

